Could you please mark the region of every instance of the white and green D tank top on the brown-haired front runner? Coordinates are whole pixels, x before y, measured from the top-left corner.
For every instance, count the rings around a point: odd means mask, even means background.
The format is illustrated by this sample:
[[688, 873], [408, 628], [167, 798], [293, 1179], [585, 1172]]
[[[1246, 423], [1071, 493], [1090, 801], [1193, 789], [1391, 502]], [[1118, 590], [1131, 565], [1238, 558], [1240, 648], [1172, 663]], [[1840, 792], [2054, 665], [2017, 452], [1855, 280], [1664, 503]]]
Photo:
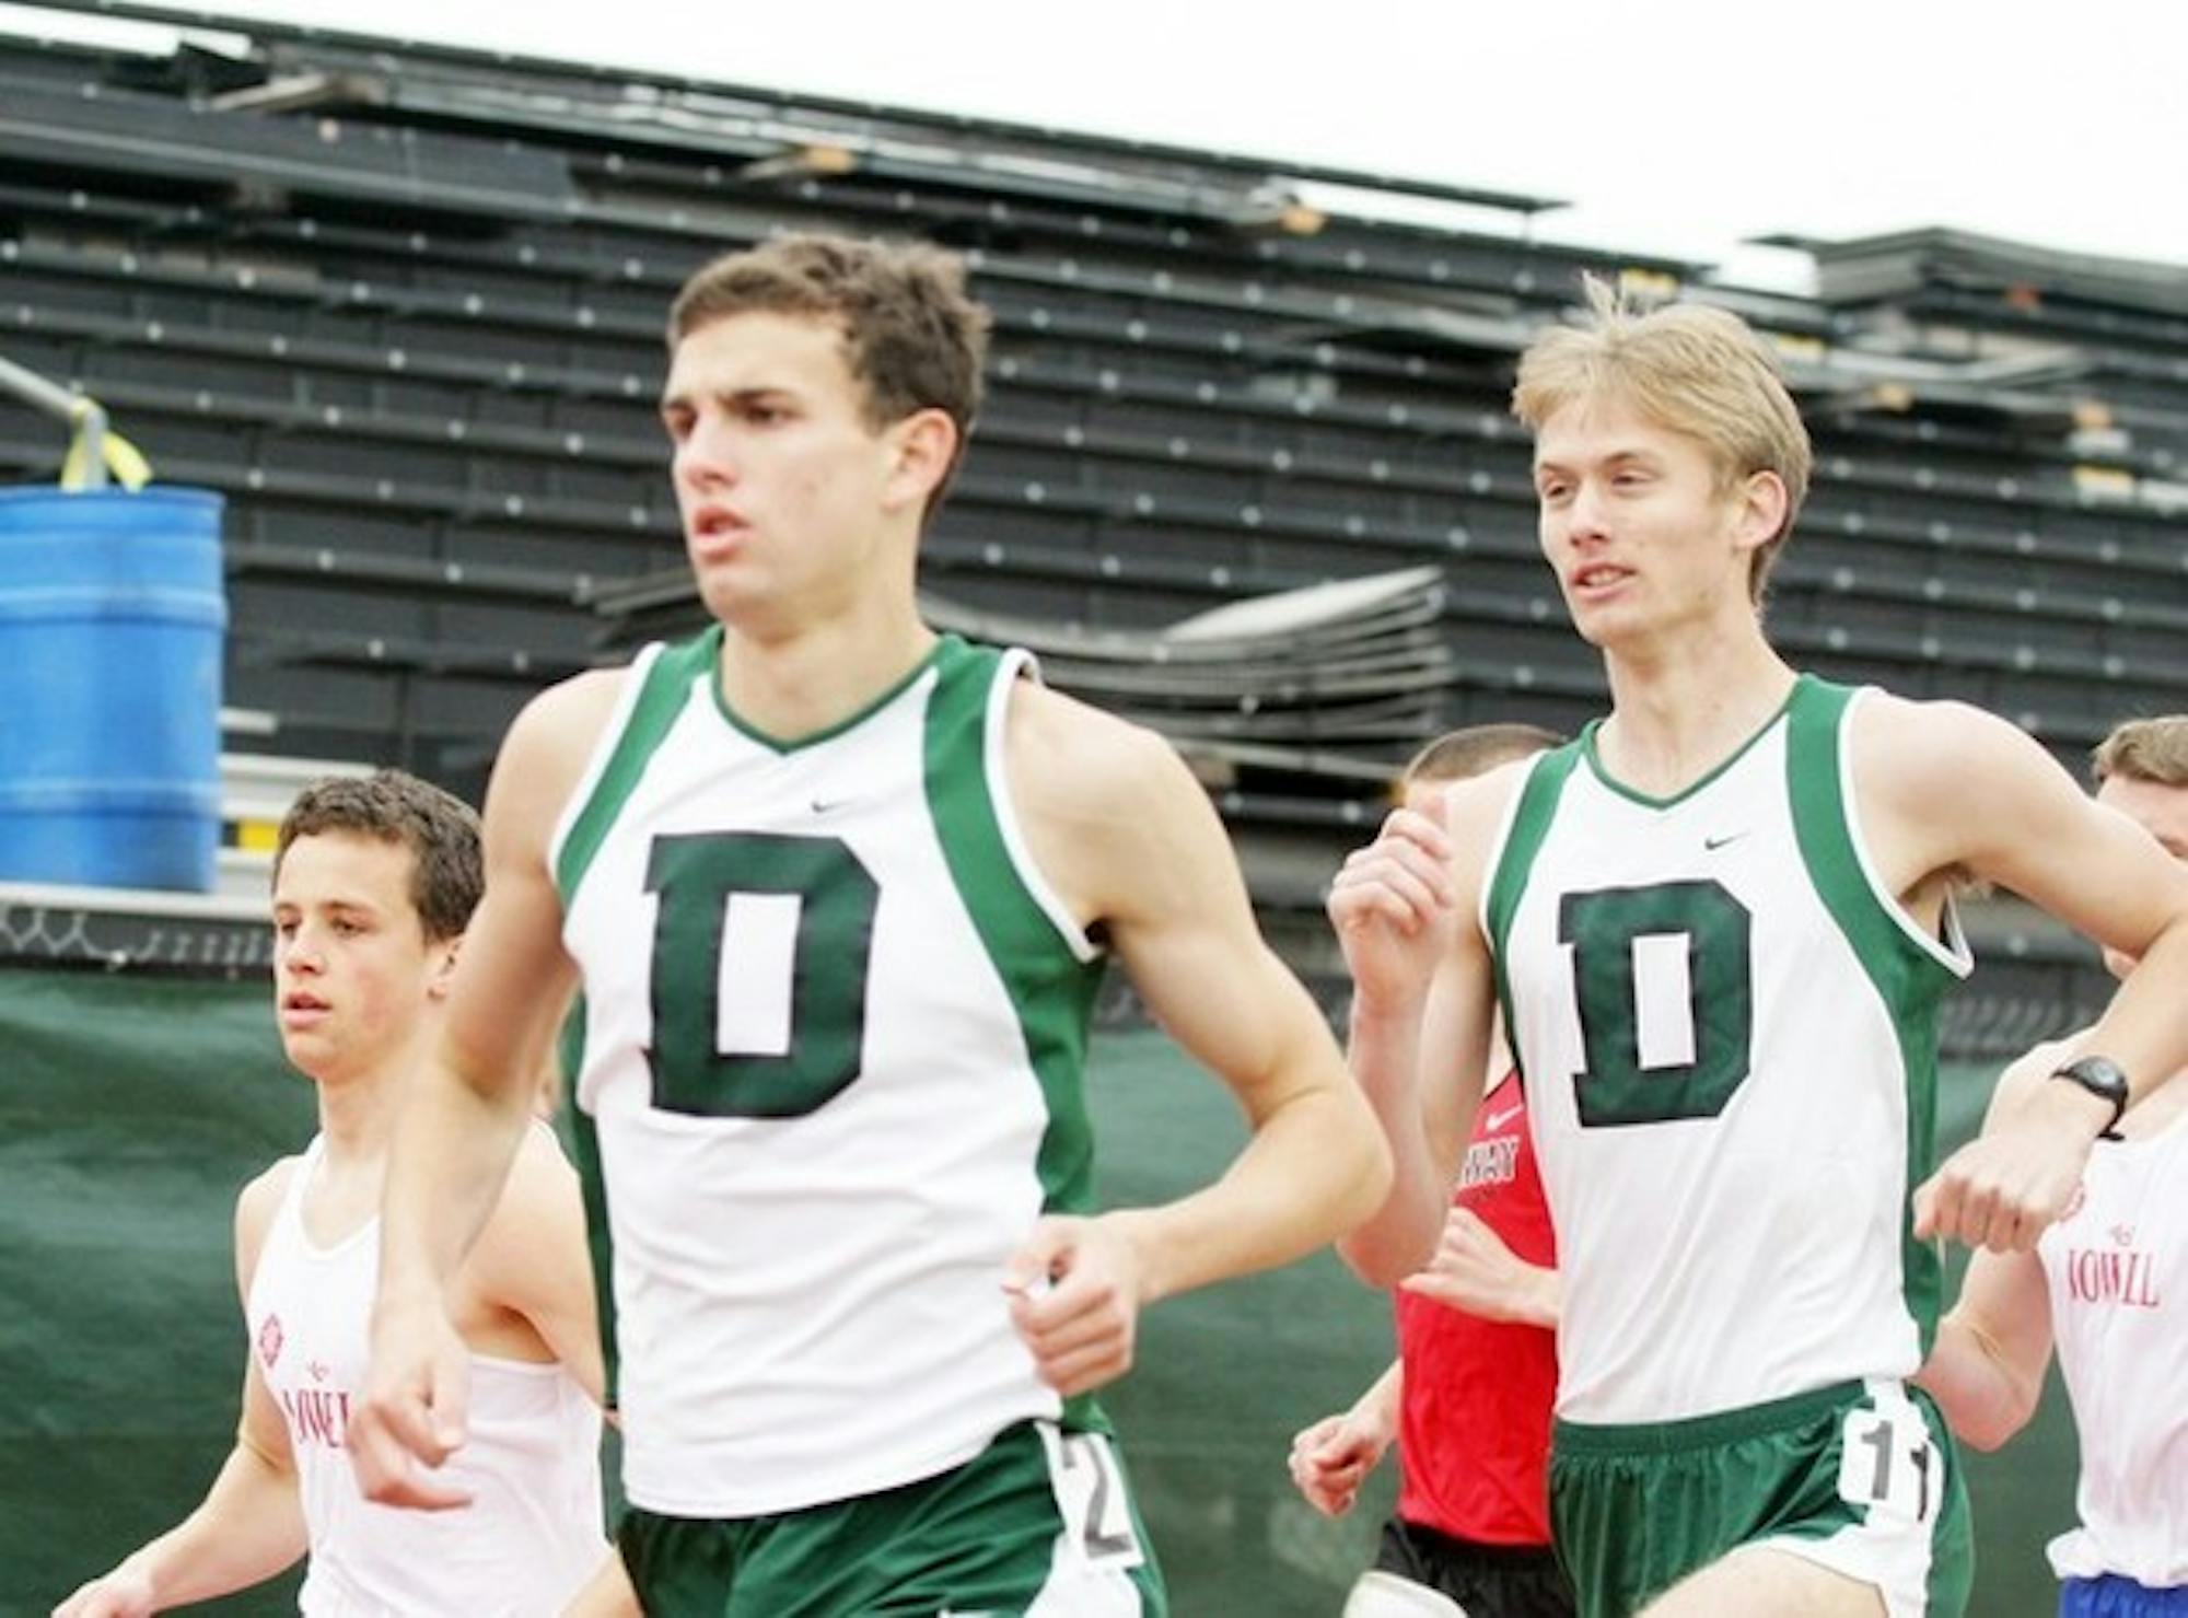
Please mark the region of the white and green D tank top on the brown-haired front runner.
[[565, 1030], [624, 1482], [746, 1517], [1057, 1417], [1004, 1262], [1083, 1211], [1101, 958], [1004, 778], [1024, 652], [954, 636], [821, 735], [648, 647], [554, 840]]

